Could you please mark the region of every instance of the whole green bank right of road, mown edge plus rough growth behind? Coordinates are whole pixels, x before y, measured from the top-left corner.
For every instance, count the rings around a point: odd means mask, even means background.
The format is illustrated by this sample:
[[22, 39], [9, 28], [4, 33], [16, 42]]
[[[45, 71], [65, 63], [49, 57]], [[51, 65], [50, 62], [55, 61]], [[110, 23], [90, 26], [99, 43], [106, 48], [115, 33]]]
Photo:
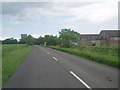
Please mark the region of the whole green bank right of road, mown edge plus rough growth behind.
[[[80, 57], [88, 58], [90, 60], [103, 63], [109, 66], [118, 67], [120, 47], [91, 47], [79, 46], [73, 48], [59, 48], [51, 46], [51, 48], [74, 54]], [[119, 67], [120, 68], [120, 67]]]

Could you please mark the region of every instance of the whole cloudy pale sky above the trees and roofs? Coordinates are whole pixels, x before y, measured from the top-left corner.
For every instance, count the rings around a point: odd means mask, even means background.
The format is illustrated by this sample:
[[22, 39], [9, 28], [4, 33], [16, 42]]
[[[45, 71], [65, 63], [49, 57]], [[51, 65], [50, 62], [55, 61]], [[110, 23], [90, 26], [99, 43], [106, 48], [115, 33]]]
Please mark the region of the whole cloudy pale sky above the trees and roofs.
[[[4, 2], [3, 2], [4, 1]], [[118, 29], [119, 0], [3, 0], [0, 3], [0, 40], [59, 35], [70, 28], [80, 34]]]

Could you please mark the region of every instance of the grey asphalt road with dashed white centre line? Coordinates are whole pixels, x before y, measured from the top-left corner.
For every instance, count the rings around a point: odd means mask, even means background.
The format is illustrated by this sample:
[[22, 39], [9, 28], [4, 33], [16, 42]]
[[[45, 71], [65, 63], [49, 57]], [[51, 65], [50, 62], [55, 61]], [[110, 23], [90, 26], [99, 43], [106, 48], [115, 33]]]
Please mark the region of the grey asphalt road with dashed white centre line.
[[118, 88], [118, 70], [34, 45], [3, 88]]

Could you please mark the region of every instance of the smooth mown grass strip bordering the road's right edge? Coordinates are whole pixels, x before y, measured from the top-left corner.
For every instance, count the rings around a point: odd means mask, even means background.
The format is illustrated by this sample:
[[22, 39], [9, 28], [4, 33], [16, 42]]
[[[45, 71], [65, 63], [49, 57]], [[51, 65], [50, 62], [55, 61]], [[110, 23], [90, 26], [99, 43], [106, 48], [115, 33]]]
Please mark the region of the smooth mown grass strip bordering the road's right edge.
[[[100, 54], [100, 51], [92, 52], [91, 50], [80, 50], [79, 48], [61, 48], [50, 46], [50, 48], [74, 54], [83, 58], [87, 58], [102, 64], [106, 64], [112, 67], [120, 68], [120, 62], [118, 61], [118, 56], [108, 54]], [[96, 48], [96, 47], [95, 47]], [[118, 52], [116, 52], [118, 53]], [[114, 53], [113, 53], [114, 54]]]

